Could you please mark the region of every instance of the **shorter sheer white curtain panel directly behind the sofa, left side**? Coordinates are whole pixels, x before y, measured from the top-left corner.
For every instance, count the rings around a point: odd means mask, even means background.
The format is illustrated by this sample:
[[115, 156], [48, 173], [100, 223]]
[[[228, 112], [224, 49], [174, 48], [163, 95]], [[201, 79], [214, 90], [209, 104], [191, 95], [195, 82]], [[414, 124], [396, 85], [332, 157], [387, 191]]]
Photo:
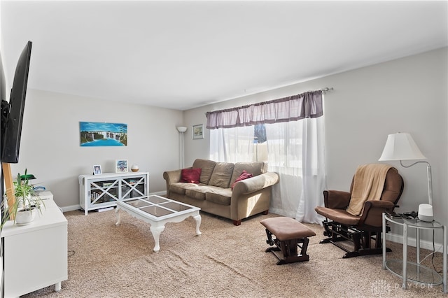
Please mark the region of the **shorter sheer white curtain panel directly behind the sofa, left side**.
[[253, 160], [253, 126], [210, 130], [210, 159], [216, 162]]

